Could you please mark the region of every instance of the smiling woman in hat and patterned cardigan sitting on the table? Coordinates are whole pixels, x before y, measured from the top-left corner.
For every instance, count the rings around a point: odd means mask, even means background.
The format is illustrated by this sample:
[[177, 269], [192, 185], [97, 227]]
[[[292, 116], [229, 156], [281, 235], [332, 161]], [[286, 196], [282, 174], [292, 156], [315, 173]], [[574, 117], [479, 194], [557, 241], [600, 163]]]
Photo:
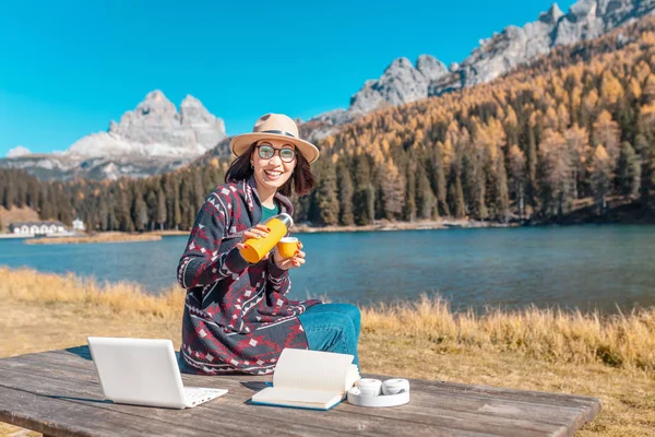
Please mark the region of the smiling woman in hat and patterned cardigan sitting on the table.
[[305, 252], [282, 258], [275, 249], [249, 264], [245, 241], [266, 235], [263, 222], [293, 213], [287, 196], [311, 191], [310, 163], [319, 150], [298, 138], [289, 117], [267, 114], [252, 133], [230, 142], [237, 158], [202, 205], [178, 265], [187, 288], [181, 367], [219, 374], [272, 373], [283, 349], [311, 349], [355, 355], [359, 310], [347, 304], [289, 300], [288, 271], [305, 264]]

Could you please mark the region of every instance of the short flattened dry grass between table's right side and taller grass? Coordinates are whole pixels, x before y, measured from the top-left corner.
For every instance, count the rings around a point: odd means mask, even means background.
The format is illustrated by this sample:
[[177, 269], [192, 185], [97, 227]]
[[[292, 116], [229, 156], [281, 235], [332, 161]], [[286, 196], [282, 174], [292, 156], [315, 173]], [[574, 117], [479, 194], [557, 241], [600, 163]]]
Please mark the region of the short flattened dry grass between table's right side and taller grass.
[[576, 436], [655, 436], [655, 377], [643, 370], [442, 347], [389, 331], [362, 332], [359, 356], [365, 371], [381, 375], [592, 395], [603, 411]]

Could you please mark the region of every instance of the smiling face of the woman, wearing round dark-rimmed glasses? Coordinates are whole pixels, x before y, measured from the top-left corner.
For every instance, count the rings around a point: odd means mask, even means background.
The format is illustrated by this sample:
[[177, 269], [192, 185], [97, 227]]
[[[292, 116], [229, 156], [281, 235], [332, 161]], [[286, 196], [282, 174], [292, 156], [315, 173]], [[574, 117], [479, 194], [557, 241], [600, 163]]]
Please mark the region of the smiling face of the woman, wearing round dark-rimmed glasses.
[[291, 177], [297, 163], [295, 150], [294, 144], [282, 139], [258, 141], [250, 163], [260, 191], [276, 191]]

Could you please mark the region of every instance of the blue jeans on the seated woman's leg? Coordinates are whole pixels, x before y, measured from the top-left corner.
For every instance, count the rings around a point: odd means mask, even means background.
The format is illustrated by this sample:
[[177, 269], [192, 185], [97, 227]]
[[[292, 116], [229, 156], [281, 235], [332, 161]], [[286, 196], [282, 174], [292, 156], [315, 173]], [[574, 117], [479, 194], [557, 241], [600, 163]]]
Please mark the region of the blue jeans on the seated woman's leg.
[[355, 355], [357, 366], [360, 319], [359, 308], [350, 304], [314, 305], [298, 316], [310, 350]]

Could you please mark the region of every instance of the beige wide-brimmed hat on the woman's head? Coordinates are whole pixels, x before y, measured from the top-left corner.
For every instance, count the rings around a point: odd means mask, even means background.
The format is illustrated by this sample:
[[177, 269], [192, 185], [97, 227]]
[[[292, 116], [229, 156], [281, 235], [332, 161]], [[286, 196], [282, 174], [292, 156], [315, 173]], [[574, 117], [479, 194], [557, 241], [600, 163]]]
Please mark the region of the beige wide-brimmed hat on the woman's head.
[[302, 156], [310, 164], [319, 158], [319, 149], [309, 141], [301, 140], [298, 137], [296, 122], [284, 114], [261, 116], [254, 123], [252, 133], [241, 133], [234, 137], [229, 142], [229, 146], [235, 155], [240, 156], [253, 142], [265, 139], [288, 141], [296, 146], [298, 152], [302, 153]]

